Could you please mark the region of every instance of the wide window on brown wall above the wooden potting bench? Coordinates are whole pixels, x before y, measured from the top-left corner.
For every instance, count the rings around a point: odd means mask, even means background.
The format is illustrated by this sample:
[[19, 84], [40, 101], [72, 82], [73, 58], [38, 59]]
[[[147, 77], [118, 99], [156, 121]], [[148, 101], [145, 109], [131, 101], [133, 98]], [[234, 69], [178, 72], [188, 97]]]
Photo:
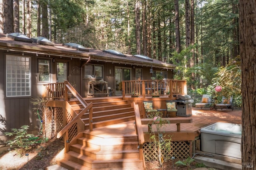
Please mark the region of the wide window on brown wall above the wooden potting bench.
[[103, 78], [102, 65], [85, 65], [84, 78]]

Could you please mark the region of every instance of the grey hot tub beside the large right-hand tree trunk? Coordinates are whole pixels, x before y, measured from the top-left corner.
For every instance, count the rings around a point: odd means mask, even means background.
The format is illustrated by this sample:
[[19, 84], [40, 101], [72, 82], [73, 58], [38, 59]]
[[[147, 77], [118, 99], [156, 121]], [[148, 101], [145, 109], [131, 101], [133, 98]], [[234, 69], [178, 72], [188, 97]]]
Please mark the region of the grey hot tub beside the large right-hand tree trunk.
[[241, 158], [241, 125], [217, 122], [200, 131], [202, 151]]

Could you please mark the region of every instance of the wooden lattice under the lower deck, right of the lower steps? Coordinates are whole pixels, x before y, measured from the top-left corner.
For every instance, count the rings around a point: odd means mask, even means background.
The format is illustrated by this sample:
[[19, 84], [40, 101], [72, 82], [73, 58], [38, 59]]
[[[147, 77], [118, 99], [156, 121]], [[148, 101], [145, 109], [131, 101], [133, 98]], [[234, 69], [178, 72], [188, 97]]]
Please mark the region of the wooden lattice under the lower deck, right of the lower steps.
[[[146, 142], [143, 145], [143, 153], [145, 161], [158, 160], [158, 148], [154, 148], [153, 144]], [[186, 159], [190, 156], [190, 143], [187, 141], [172, 141], [170, 152], [161, 150], [161, 154], [165, 154], [165, 158], [174, 156], [176, 159]]]

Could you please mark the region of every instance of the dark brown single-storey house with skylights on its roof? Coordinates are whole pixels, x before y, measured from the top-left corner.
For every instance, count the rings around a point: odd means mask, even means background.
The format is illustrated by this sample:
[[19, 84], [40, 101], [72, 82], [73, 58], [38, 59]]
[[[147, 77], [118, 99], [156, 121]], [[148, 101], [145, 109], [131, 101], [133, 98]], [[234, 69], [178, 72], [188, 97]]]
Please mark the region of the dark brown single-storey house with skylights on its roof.
[[146, 80], [159, 73], [173, 78], [175, 65], [164, 61], [16, 35], [0, 34], [0, 143], [6, 140], [4, 132], [22, 125], [37, 133], [31, 101], [44, 96], [44, 84], [68, 80], [88, 97], [89, 81], [107, 82], [110, 95], [122, 95], [124, 80]]

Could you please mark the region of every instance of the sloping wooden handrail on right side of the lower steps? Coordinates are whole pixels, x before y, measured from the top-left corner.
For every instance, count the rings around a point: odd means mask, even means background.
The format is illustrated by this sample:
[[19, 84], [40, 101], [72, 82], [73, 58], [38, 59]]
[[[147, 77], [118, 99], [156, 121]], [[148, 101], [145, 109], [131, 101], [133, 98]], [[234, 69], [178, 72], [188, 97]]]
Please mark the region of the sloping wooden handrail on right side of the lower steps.
[[139, 159], [143, 161], [143, 167], [144, 170], [146, 170], [146, 163], [144, 159], [144, 154], [143, 154], [143, 144], [145, 143], [144, 139], [144, 133], [142, 130], [142, 124], [140, 120], [140, 110], [139, 106], [133, 103], [134, 106], [134, 113], [135, 113], [135, 127], [136, 127], [136, 134], [138, 135], [138, 140], [139, 140]]

